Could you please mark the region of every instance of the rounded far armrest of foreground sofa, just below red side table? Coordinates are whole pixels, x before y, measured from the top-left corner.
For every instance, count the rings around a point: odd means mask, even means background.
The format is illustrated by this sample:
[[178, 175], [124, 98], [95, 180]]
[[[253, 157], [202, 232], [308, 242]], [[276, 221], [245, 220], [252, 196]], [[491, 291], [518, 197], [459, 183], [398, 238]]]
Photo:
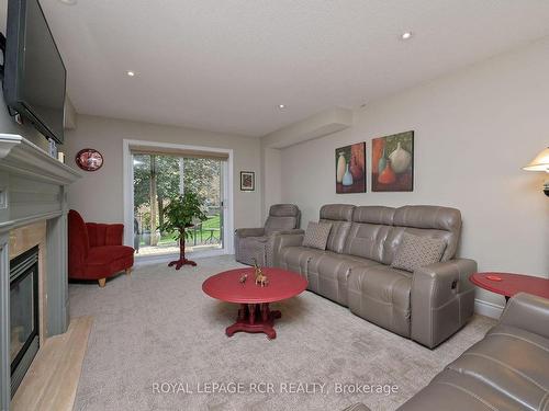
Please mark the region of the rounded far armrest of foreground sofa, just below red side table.
[[549, 339], [549, 299], [518, 293], [505, 306], [500, 324], [516, 327]]

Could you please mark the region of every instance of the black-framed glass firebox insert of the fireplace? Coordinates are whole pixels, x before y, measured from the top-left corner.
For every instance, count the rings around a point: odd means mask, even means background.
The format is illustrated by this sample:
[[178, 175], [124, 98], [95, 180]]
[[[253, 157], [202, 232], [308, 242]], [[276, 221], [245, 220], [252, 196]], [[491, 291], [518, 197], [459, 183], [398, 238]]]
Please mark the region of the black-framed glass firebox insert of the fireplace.
[[11, 396], [38, 351], [38, 247], [10, 261]]

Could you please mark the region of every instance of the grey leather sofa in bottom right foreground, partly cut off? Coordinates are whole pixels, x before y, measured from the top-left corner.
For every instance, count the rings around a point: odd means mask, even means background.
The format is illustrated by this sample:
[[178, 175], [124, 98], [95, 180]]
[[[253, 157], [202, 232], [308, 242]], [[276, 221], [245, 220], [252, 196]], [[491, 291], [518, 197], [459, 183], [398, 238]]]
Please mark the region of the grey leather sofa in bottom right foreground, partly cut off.
[[399, 408], [439, 410], [549, 410], [549, 299], [517, 294], [483, 340]]

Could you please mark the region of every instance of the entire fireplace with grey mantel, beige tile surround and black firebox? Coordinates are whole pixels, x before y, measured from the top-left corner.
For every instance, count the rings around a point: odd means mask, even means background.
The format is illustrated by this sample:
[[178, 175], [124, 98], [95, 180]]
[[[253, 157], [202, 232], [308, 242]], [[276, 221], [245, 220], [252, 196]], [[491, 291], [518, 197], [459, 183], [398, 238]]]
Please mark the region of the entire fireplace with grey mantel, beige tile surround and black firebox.
[[2, 411], [18, 387], [22, 392], [38, 342], [42, 350], [49, 336], [67, 331], [67, 186], [79, 178], [25, 138], [0, 134]]

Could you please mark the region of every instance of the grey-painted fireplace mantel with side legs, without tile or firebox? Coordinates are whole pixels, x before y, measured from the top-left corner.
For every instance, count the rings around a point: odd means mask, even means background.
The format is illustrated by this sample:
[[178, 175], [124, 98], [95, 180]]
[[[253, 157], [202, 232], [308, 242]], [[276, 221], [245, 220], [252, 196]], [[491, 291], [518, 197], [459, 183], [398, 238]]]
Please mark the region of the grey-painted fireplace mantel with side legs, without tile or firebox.
[[0, 410], [10, 406], [10, 230], [46, 221], [47, 334], [68, 327], [67, 185], [81, 175], [18, 135], [0, 134]]

